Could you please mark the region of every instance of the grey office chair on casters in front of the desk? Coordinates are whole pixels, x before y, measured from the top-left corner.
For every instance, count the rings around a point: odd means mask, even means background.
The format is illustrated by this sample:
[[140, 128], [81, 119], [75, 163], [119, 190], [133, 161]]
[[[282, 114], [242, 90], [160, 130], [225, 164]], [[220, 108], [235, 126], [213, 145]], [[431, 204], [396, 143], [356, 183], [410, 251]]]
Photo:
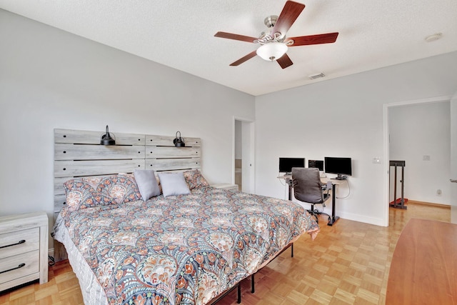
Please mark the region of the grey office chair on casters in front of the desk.
[[315, 204], [322, 204], [324, 207], [325, 201], [330, 198], [328, 191], [331, 189], [331, 182], [330, 187], [328, 187], [328, 184], [321, 183], [319, 169], [294, 167], [292, 169], [292, 184], [293, 196], [299, 201], [311, 204], [311, 209], [307, 211], [316, 218], [317, 222], [319, 222], [319, 214], [327, 215], [330, 221], [330, 215], [314, 209]]

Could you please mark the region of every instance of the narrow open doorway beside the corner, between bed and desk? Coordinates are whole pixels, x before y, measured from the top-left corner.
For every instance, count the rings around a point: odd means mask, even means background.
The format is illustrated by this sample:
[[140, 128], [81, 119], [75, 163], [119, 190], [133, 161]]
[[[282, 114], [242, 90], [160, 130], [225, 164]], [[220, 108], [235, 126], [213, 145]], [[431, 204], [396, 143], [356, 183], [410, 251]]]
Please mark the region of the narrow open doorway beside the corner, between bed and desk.
[[254, 193], [254, 123], [233, 118], [233, 183], [239, 191]]

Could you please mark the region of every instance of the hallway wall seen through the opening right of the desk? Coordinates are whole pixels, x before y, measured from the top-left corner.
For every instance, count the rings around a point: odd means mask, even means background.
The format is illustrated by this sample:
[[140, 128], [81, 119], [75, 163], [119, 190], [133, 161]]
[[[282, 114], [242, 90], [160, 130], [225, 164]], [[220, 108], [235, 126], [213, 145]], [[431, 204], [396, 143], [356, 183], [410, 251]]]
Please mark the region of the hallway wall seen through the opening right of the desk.
[[[391, 160], [404, 160], [404, 196], [450, 204], [451, 119], [449, 101], [389, 108]], [[429, 160], [424, 160], [429, 156]], [[393, 171], [393, 168], [391, 169]], [[400, 179], [401, 169], [397, 169]], [[393, 173], [391, 173], [393, 177]], [[393, 184], [393, 180], [392, 180]], [[401, 184], [397, 184], [397, 198]], [[441, 194], [437, 194], [437, 190]], [[391, 193], [393, 200], [393, 192]]]

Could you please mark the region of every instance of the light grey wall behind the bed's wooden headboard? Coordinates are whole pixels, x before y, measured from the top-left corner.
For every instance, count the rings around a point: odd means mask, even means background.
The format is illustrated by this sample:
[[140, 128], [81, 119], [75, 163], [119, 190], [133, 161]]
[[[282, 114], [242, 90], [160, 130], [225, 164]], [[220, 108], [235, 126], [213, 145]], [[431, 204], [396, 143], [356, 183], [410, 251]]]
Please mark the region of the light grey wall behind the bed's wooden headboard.
[[254, 119], [253, 96], [1, 9], [0, 50], [0, 215], [52, 219], [55, 128], [179, 130], [201, 137], [209, 182], [231, 182], [233, 116]]

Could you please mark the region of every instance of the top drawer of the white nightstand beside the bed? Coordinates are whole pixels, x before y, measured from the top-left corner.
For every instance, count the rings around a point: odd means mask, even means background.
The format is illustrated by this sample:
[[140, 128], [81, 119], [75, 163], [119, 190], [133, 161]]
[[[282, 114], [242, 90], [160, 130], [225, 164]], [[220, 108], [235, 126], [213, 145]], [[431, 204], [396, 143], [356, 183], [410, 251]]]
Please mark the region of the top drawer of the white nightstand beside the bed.
[[39, 241], [39, 227], [0, 234], [0, 259], [37, 250]]

